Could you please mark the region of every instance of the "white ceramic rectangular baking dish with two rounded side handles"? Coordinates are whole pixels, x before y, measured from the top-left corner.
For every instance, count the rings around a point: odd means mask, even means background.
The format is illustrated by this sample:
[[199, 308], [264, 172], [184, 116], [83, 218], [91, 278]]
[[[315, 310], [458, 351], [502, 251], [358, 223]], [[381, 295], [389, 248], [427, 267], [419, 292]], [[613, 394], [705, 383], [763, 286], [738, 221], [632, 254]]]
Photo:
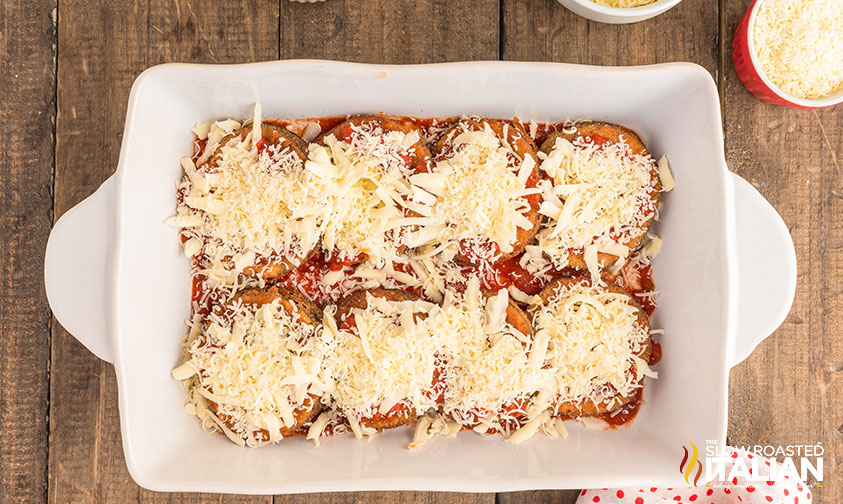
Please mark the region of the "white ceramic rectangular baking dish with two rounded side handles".
[[[660, 378], [635, 422], [616, 431], [571, 424], [567, 440], [521, 446], [471, 433], [418, 452], [409, 430], [316, 448], [301, 439], [238, 448], [183, 413], [179, 362], [188, 261], [175, 208], [179, 158], [197, 120], [386, 112], [589, 118], [638, 130], [667, 152], [677, 181], [664, 198], [655, 260], [662, 292]], [[46, 289], [56, 318], [114, 363], [129, 470], [154, 490], [284, 493], [371, 489], [506, 491], [678, 485], [682, 445], [725, 442], [729, 369], [784, 319], [796, 260], [775, 210], [723, 155], [717, 92], [685, 63], [599, 68], [552, 63], [385, 66], [282, 61], [163, 65], [135, 81], [116, 174], [67, 212], [50, 236]], [[737, 230], [737, 234], [736, 234]], [[736, 238], [737, 236], [737, 238]], [[56, 419], [61, 422], [61, 418]]]

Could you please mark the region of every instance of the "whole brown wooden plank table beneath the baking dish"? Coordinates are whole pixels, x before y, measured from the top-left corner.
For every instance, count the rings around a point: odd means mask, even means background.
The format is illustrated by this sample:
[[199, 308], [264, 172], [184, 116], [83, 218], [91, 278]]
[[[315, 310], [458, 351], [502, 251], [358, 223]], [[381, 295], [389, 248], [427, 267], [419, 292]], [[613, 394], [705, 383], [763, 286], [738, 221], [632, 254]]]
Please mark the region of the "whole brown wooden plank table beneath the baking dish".
[[[799, 261], [790, 316], [731, 377], [731, 444], [826, 448], [816, 502], [843, 501], [843, 107], [753, 98], [732, 69], [749, 0], [685, 0], [626, 26], [553, 0], [32, 0], [0, 3], [0, 501], [260, 502], [160, 494], [123, 459], [114, 369], [50, 316], [43, 253], [55, 219], [112, 174], [129, 87], [169, 61], [328, 58], [385, 63], [545, 60], [699, 63], [715, 77], [730, 168], [790, 227]], [[775, 274], [775, 272], [771, 272]], [[277, 502], [574, 502], [576, 491], [355, 493]]]

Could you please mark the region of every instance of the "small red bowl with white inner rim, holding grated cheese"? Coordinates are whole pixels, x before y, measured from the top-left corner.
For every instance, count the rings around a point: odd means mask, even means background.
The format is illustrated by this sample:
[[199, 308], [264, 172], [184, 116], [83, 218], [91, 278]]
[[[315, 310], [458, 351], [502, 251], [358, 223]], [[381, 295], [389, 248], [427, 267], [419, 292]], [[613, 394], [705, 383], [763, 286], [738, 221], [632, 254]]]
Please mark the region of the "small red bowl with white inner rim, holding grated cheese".
[[763, 0], [753, 0], [746, 10], [741, 24], [735, 30], [732, 41], [732, 63], [743, 85], [757, 98], [782, 107], [816, 109], [830, 107], [843, 102], [843, 93], [820, 99], [797, 98], [790, 96], [773, 84], [761, 73], [755, 52], [752, 50], [752, 29], [755, 27], [755, 15]]

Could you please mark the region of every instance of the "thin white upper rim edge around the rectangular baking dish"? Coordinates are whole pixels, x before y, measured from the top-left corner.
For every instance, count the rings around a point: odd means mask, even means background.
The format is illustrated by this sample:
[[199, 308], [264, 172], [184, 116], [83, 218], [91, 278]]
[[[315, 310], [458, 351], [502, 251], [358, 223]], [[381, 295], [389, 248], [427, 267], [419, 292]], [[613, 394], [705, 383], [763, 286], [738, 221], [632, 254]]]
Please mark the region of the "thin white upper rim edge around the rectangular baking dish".
[[[672, 0], [667, 0], [668, 2]], [[681, 1], [681, 0], [676, 0]], [[120, 225], [120, 222], [123, 221], [123, 213], [124, 213], [124, 205], [123, 205], [123, 197], [122, 193], [124, 191], [124, 175], [125, 175], [125, 165], [127, 163], [126, 159], [129, 157], [127, 153], [136, 148], [131, 146], [131, 138], [133, 137], [132, 131], [134, 130], [135, 126], [135, 112], [138, 107], [139, 97], [142, 93], [142, 89], [146, 86], [149, 82], [151, 76], [161, 72], [164, 69], [171, 70], [175, 68], [204, 68], [208, 69], [211, 67], [215, 67], [217, 71], [231, 71], [232, 69], [257, 69], [257, 68], [268, 68], [268, 67], [283, 67], [283, 66], [301, 66], [301, 67], [308, 67], [312, 66], [314, 68], [321, 68], [324, 69], [325, 67], [333, 67], [334, 69], [342, 68], [343, 71], [346, 72], [359, 72], [365, 71], [370, 69], [383, 69], [383, 68], [393, 68], [393, 69], [401, 69], [401, 70], [418, 70], [418, 69], [425, 69], [425, 68], [445, 68], [445, 67], [466, 67], [470, 69], [482, 69], [484, 67], [502, 67], [508, 66], [512, 68], [517, 68], [519, 66], [530, 66], [530, 67], [543, 67], [543, 68], [578, 68], [585, 71], [600, 71], [606, 73], [639, 73], [639, 72], [652, 72], [652, 71], [666, 71], [670, 69], [682, 69], [688, 72], [697, 73], [701, 76], [704, 76], [708, 82], [710, 88], [714, 91], [714, 95], [716, 96], [716, 87], [714, 84], [713, 79], [711, 78], [710, 73], [708, 70], [703, 68], [700, 65], [695, 63], [687, 63], [687, 62], [670, 62], [670, 63], [659, 63], [654, 65], [639, 65], [639, 66], [627, 66], [627, 67], [597, 67], [593, 65], [582, 65], [582, 64], [573, 64], [573, 63], [551, 63], [551, 62], [512, 62], [512, 61], [474, 61], [474, 62], [449, 62], [449, 63], [434, 63], [434, 64], [415, 64], [415, 65], [395, 65], [395, 64], [367, 64], [367, 63], [351, 63], [351, 62], [338, 62], [338, 61], [327, 61], [327, 60], [280, 60], [280, 61], [266, 61], [266, 62], [255, 62], [255, 63], [244, 63], [244, 64], [225, 64], [225, 65], [212, 65], [212, 64], [192, 64], [192, 63], [168, 63], [163, 65], [157, 65], [145, 70], [141, 75], [139, 75], [134, 85], [132, 86], [132, 90], [129, 95], [128, 101], [128, 108], [125, 120], [125, 131], [123, 134], [123, 139], [121, 142], [121, 151], [120, 151], [120, 160], [118, 162], [117, 170], [115, 172], [115, 195], [114, 195], [114, 212], [115, 212], [115, 228], [114, 228], [114, 241], [113, 241], [113, 249], [112, 249], [112, 257], [113, 257], [113, 265], [110, 277], [107, 281], [107, 290], [111, 294], [112, 303], [108, 309], [108, 328], [109, 328], [109, 340], [112, 345], [113, 349], [113, 365], [115, 367], [115, 373], [117, 377], [117, 384], [118, 390], [125, 389], [125, 383], [127, 380], [126, 370], [122, 365], [123, 355], [122, 355], [122, 345], [121, 339], [118, 338], [116, 335], [119, 333], [118, 327], [118, 320], [119, 317], [115, 316], [115, 313], [118, 313], [121, 307], [120, 299], [122, 298], [120, 282], [119, 282], [119, 275], [117, 272], [122, 267], [123, 263], [123, 255], [124, 246], [123, 246], [123, 235], [125, 233], [125, 228]], [[709, 106], [712, 108], [712, 113], [719, 116], [719, 103], [712, 101]], [[722, 170], [719, 170], [721, 173], [719, 174], [723, 179], [723, 201], [720, 204], [724, 207], [723, 211], [723, 219], [725, 223], [725, 244], [723, 250], [724, 258], [725, 258], [725, 268], [726, 268], [726, 277], [729, 279], [728, 281], [728, 295], [725, 296], [725, 299], [722, 300], [722, 309], [726, 312], [726, 331], [724, 338], [724, 344], [726, 345], [725, 351], [722, 356], [722, 369], [720, 372], [717, 373], [717, 379], [719, 383], [715, 386], [720, 388], [720, 392], [717, 398], [717, 407], [719, 409], [719, 414], [714, 415], [715, 420], [714, 423], [717, 425], [719, 430], [718, 439], [724, 440], [726, 439], [726, 432], [728, 428], [728, 390], [729, 390], [729, 371], [730, 367], [730, 359], [732, 353], [732, 347], [735, 342], [735, 338], [737, 337], [737, 302], [738, 302], [738, 292], [737, 292], [737, 281], [736, 281], [736, 264], [737, 264], [737, 242], [735, 236], [735, 207], [734, 207], [734, 189], [731, 181], [731, 175], [728, 170], [725, 161], [725, 153], [722, 150], [722, 141], [723, 141], [723, 132], [719, 124], [712, 124], [712, 131], [710, 133], [719, 140], [721, 148], [720, 153], [717, 156], [720, 159], [720, 163], [722, 164]], [[200, 492], [200, 491], [211, 491], [211, 492], [226, 492], [231, 493], [235, 489], [237, 493], [249, 493], [249, 494], [267, 494], [266, 491], [263, 489], [255, 489], [255, 488], [243, 488], [239, 487], [237, 483], [230, 483], [227, 481], [216, 482], [213, 485], [208, 485], [207, 483], [197, 483], [197, 482], [164, 482], [161, 483], [153, 479], [150, 479], [150, 476], [147, 472], [141, 470], [141, 467], [138, 466], [137, 460], [135, 459], [135, 455], [131, 449], [128, 447], [130, 446], [130, 438], [133, 435], [131, 433], [132, 429], [127, 424], [127, 418], [125, 415], [125, 411], [127, 408], [129, 398], [127, 394], [121, 393], [118, 395], [118, 405], [120, 411], [120, 434], [121, 434], [121, 441], [123, 446], [123, 452], [125, 456], [125, 461], [127, 468], [129, 470], [130, 475], [132, 478], [143, 488], [154, 489], [156, 491], [193, 491], [193, 492]], [[595, 476], [598, 478], [598, 476]], [[597, 480], [590, 482], [590, 483], [597, 483]], [[302, 485], [295, 485], [291, 484], [290, 489], [278, 490], [273, 489], [270, 493], [288, 493], [288, 492], [296, 492], [296, 493], [310, 493], [310, 492], [325, 492], [325, 491], [354, 491], [354, 490], [402, 490], [402, 489], [414, 489], [414, 490], [431, 490], [431, 491], [461, 491], [461, 492], [476, 492], [477, 490], [477, 481], [475, 480], [466, 480], [466, 481], [440, 481], [440, 480], [432, 480], [432, 479], [424, 479], [424, 480], [417, 480], [412, 476], [404, 476], [402, 478], [381, 478], [375, 480], [368, 480], [365, 483], [361, 483], [357, 479], [346, 479], [340, 478], [334, 481], [329, 481], [323, 483], [318, 488], [313, 486], [311, 483], [305, 483]], [[586, 485], [587, 486], [587, 485]], [[596, 485], [594, 485], [596, 486]], [[567, 488], [558, 486], [555, 484], [554, 479], [548, 478], [537, 478], [535, 480], [504, 480], [500, 481], [490, 487], [487, 487], [488, 490], [485, 491], [516, 491], [516, 490], [530, 490], [530, 489], [537, 489], [537, 488]]]

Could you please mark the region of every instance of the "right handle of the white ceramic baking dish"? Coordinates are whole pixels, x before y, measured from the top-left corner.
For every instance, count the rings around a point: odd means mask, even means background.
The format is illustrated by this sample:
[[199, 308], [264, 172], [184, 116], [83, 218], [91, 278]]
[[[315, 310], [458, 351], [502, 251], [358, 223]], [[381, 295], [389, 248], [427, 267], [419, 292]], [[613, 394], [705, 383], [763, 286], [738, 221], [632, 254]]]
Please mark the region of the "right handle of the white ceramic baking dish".
[[796, 251], [781, 216], [752, 185], [732, 174], [738, 250], [737, 336], [731, 365], [746, 359], [781, 325], [796, 292]]

